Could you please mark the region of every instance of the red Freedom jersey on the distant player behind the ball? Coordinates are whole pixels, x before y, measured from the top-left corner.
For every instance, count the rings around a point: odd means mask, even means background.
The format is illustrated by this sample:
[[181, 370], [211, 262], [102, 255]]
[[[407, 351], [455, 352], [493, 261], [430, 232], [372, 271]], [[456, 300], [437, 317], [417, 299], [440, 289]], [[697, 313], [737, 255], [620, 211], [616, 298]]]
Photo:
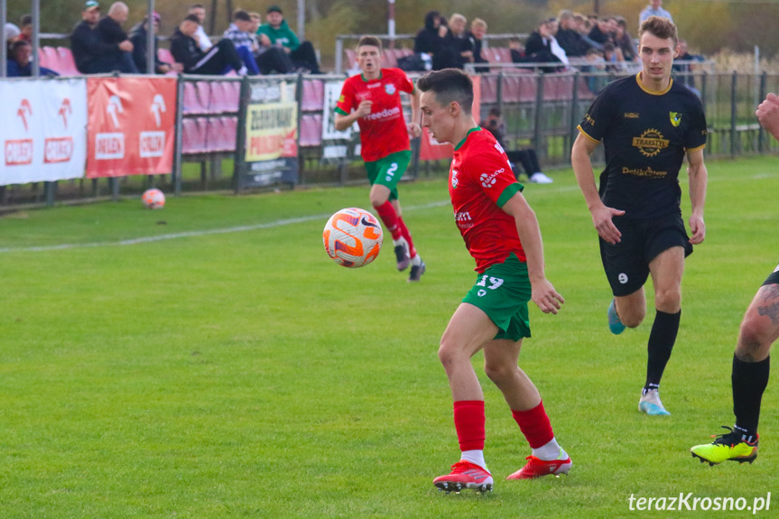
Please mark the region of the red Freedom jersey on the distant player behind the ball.
[[362, 101], [373, 103], [371, 113], [357, 120], [365, 162], [374, 162], [391, 153], [411, 149], [408, 130], [403, 119], [400, 93], [413, 92], [413, 82], [400, 69], [382, 69], [379, 79], [366, 81], [362, 74], [344, 83], [336, 112], [348, 116]]

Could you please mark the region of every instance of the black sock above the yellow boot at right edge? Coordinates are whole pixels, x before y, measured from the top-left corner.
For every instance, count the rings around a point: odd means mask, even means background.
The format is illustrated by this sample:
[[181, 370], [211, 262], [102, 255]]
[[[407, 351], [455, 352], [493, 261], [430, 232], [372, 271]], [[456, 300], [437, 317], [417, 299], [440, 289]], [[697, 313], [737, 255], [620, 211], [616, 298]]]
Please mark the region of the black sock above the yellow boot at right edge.
[[733, 371], [730, 381], [733, 384], [733, 413], [736, 414], [736, 426], [746, 431], [747, 436], [757, 434], [757, 422], [760, 420], [760, 403], [763, 400], [771, 357], [760, 362], [744, 362], [733, 356]]

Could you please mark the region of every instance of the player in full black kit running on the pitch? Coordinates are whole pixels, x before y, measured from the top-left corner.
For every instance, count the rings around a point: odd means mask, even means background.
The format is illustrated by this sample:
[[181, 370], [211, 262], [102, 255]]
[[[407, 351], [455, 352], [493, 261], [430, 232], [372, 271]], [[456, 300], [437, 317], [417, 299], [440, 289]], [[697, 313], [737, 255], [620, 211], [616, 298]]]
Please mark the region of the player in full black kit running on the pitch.
[[[641, 25], [639, 39], [642, 71], [601, 90], [579, 125], [571, 164], [598, 231], [601, 261], [614, 294], [607, 310], [612, 333], [644, 320], [644, 284], [652, 275], [656, 312], [638, 409], [662, 416], [670, 414], [659, 390], [679, 331], [684, 258], [706, 236], [707, 131], [698, 97], [671, 79], [676, 26], [652, 16]], [[598, 190], [589, 157], [601, 142], [607, 166]], [[678, 181], [685, 157], [691, 237], [682, 220]]]

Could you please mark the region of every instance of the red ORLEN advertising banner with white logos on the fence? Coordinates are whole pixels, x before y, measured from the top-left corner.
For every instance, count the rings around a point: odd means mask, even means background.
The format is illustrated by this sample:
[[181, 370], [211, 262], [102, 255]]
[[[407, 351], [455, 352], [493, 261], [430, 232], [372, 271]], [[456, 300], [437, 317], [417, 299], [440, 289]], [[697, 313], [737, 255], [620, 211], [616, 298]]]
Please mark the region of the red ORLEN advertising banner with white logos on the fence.
[[170, 173], [175, 78], [89, 78], [87, 176]]

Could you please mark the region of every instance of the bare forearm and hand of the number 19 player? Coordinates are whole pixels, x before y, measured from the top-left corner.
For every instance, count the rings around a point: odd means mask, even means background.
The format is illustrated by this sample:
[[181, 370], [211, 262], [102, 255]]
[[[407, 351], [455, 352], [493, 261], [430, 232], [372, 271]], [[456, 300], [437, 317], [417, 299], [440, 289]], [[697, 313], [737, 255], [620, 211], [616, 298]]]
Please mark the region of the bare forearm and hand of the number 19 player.
[[519, 191], [515, 192], [501, 209], [514, 217], [516, 232], [522, 242], [524, 255], [527, 257], [527, 273], [533, 288], [531, 300], [544, 313], [557, 313], [561, 303], [565, 300], [554, 290], [552, 283], [546, 279], [546, 275], [543, 273], [543, 242], [535, 212]]

